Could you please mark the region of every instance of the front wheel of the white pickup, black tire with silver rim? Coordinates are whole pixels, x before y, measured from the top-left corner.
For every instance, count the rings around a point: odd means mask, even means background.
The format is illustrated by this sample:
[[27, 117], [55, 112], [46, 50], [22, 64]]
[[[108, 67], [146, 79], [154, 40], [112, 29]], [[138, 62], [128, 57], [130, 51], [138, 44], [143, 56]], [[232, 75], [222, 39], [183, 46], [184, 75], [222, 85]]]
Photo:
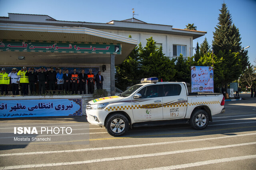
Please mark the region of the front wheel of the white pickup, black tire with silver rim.
[[129, 121], [122, 114], [113, 114], [106, 121], [107, 132], [114, 137], [124, 135], [129, 129]]

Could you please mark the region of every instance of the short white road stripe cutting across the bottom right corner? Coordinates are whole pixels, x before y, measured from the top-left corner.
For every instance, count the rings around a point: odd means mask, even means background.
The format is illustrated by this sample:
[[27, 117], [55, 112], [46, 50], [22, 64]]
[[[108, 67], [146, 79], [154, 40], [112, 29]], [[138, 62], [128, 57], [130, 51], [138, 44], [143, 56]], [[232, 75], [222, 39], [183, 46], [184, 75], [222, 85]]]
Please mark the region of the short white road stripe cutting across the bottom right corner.
[[254, 159], [256, 158], [256, 154], [254, 155], [246, 155], [246, 156], [236, 156], [230, 158], [222, 158], [222, 159], [214, 159], [214, 160], [206, 160], [201, 162], [193, 162], [189, 164], [180, 164], [180, 165], [173, 165], [173, 166], [165, 166], [165, 167], [158, 167], [158, 168], [150, 168], [145, 170], [175, 170], [181, 168], [190, 168], [195, 166], [202, 166], [202, 165], [209, 165], [209, 164], [218, 164], [222, 162], [231, 162], [236, 160], [245, 160], [245, 159]]

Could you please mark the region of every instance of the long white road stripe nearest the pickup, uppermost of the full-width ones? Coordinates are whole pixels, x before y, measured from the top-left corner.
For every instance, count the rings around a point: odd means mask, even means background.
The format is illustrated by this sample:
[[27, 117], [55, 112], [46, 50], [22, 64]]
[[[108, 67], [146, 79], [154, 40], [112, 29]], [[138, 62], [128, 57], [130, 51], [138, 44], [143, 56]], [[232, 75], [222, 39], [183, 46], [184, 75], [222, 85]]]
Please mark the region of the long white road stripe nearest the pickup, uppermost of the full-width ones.
[[20, 155], [30, 155], [30, 154], [51, 154], [51, 153], [62, 153], [62, 152], [84, 152], [84, 151], [95, 151], [95, 150], [148, 147], [148, 146], [155, 146], [155, 145], [168, 145], [168, 144], [173, 144], [173, 143], [198, 142], [198, 141], [206, 141], [206, 140], [225, 139], [225, 138], [231, 138], [231, 137], [243, 137], [243, 136], [249, 136], [249, 135], [256, 135], [256, 133], [247, 133], [247, 134], [223, 136], [223, 137], [211, 137], [211, 138], [203, 138], [203, 139], [190, 139], [190, 140], [182, 140], [182, 141], [146, 143], [146, 144], [139, 144], [139, 145], [124, 145], [124, 146], [101, 147], [101, 148], [85, 148], [85, 149], [75, 149], [75, 150], [53, 150], [53, 151], [42, 151], [42, 152], [10, 153], [10, 154], [0, 154], [0, 156], [20, 156]]

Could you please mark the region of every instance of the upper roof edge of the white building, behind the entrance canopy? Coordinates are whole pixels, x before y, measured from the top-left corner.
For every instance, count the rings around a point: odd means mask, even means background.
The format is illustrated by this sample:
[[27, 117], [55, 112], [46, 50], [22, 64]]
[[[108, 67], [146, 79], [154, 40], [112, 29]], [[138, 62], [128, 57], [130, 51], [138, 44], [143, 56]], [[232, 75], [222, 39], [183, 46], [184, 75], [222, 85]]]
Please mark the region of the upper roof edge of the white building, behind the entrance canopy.
[[[55, 20], [47, 15], [32, 15], [32, 14], [12, 14], [8, 13], [10, 17], [0, 18], [0, 22], [3, 23], [22, 23], [22, 24], [34, 24], [34, 25], [55, 25], [55, 26], [68, 26], [68, 27], [86, 27], [91, 29], [114, 29], [114, 30], [124, 30], [124, 31], [138, 31], [138, 32], [149, 32], [149, 33], [164, 33], [169, 35], [184, 35], [193, 37], [196, 39], [205, 35], [206, 31], [194, 31], [187, 29], [176, 29], [172, 28], [172, 25], [161, 25], [146, 23], [134, 18], [116, 21], [112, 20], [108, 23], [92, 23], [92, 22], [82, 22], [82, 21], [60, 21]], [[20, 19], [20, 16], [22, 19]]]

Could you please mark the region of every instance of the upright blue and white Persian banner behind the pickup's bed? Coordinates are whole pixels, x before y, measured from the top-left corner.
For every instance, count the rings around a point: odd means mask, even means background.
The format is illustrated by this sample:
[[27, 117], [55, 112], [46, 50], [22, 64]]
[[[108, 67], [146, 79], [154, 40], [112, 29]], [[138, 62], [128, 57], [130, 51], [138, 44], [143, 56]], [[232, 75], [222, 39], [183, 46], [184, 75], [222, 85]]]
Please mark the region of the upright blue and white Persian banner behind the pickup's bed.
[[191, 66], [191, 92], [213, 93], [213, 68], [211, 66]]

